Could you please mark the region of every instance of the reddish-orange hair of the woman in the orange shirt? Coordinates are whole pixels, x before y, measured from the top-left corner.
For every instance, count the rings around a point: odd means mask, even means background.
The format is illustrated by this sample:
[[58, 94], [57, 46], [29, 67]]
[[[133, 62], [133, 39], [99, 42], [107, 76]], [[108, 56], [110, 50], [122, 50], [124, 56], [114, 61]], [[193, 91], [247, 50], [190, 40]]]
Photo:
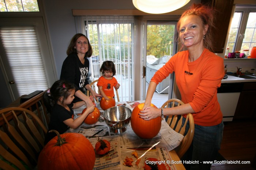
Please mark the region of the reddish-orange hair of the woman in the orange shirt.
[[[214, 13], [217, 12], [215, 9], [203, 5], [203, 4], [193, 4], [191, 7], [189, 7], [184, 13], [182, 13], [180, 19], [177, 23], [177, 31], [178, 34], [180, 33], [180, 24], [181, 19], [185, 16], [189, 15], [196, 15], [199, 16], [202, 19], [203, 25], [208, 25], [208, 30], [205, 35], [204, 39], [204, 47], [206, 47], [209, 50], [213, 49], [212, 46], [212, 28], [214, 27]], [[183, 47], [183, 46], [182, 46]]]

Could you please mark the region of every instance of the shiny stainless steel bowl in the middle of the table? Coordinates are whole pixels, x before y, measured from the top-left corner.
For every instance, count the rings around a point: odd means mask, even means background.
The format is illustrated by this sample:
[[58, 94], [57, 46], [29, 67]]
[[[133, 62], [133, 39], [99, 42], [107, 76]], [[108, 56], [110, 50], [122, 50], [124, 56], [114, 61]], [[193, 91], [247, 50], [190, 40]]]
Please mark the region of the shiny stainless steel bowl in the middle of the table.
[[126, 131], [126, 127], [131, 121], [131, 114], [131, 109], [121, 105], [106, 109], [103, 117], [111, 132], [121, 133]]

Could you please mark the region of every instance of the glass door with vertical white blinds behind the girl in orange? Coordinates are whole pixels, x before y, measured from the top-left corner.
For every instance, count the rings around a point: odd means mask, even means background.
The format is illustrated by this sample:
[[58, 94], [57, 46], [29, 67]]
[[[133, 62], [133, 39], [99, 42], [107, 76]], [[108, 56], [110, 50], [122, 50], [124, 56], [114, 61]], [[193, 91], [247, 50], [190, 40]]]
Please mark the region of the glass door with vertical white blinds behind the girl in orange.
[[133, 86], [133, 17], [132, 16], [87, 16], [86, 35], [93, 47], [91, 72], [95, 79], [103, 61], [113, 61], [120, 101], [132, 101]]

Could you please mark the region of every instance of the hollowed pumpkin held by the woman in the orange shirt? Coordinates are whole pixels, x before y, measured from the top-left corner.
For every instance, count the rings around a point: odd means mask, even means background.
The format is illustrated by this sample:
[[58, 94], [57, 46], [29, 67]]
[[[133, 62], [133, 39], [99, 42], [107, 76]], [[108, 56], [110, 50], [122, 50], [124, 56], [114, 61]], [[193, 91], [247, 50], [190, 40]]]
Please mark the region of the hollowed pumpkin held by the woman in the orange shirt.
[[[161, 117], [157, 117], [151, 120], [144, 120], [140, 118], [139, 113], [142, 110], [144, 103], [137, 105], [131, 115], [131, 126], [132, 130], [136, 135], [143, 139], [154, 138], [161, 129]], [[157, 108], [151, 104], [152, 107]]]

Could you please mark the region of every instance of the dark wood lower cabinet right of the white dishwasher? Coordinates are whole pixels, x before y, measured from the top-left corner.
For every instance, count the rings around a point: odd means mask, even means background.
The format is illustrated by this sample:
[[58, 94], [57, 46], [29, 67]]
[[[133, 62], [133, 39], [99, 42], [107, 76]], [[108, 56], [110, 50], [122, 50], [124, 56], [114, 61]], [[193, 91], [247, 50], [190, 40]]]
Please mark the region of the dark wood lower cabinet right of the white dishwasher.
[[256, 118], [256, 82], [244, 83], [234, 120]]

